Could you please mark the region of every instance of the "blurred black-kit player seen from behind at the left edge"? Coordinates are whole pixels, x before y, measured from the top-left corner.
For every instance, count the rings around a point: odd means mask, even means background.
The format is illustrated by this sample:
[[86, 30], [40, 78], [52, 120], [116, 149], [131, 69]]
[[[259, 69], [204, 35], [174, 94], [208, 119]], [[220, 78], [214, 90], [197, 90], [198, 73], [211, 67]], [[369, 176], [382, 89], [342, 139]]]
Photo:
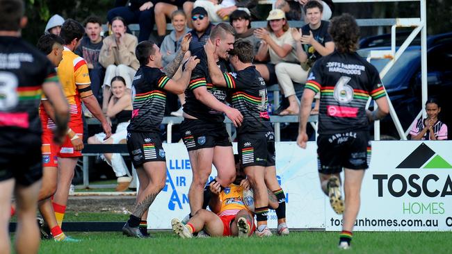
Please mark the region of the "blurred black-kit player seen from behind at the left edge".
[[[41, 122], [38, 106], [42, 92], [51, 101], [56, 118], [55, 138], [63, 141], [69, 105], [58, 84], [55, 67], [20, 38], [26, 24], [22, 0], [0, 0], [0, 214], [10, 213], [17, 199], [15, 248], [37, 253], [39, 230], [36, 207], [42, 178]], [[10, 252], [9, 217], [0, 221], [0, 252]]]

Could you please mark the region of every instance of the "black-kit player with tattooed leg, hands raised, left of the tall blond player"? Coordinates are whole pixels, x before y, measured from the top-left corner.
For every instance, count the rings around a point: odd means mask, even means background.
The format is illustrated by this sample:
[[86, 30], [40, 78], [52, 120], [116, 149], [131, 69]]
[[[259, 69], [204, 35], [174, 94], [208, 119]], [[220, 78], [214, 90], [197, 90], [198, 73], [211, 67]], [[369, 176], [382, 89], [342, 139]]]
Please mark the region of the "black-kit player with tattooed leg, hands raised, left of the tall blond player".
[[[140, 232], [140, 221], [166, 182], [166, 156], [159, 126], [163, 120], [166, 92], [181, 94], [190, 81], [192, 70], [200, 60], [188, 59], [182, 76], [172, 80], [160, 68], [161, 53], [156, 44], [143, 41], [136, 46], [140, 68], [132, 83], [134, 110], [127, 127], [127, 149], [138, 173], [140, 189], [129, 221], [122, 228], [129, 237], [146, 237]], [[169, 74], [168, 74], [169, 75]], [[151, 178], [152, 175], [152, 178]]]

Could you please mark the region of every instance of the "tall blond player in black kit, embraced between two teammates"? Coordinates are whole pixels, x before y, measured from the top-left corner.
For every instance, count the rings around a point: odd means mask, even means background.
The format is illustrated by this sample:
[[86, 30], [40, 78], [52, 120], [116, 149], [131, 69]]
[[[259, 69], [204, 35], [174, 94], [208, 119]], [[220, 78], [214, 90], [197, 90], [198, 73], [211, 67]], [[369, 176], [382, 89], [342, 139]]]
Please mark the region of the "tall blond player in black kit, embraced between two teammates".
[[[212, 29], [209, 40], [217, 46], [213, 53], [216, 62], [223, 71], [227, 71], [225, 59], [233, 48], [234, 28], [229, 24], [218, 24]], [[221, 186], [229, 186], [235, 178], [234, 153], [223, 123], [223, 113], [235, 126], [240, 126], [243, 120], [239, 110], [225, 104], [226, 90], [213, 86], [204, 49], [193, 55], [200, 59], [200, 64], [192, 71], [190, 84], [185, 91], [184, 121], [181, 123], [181, 133], [193, 171], [188, 192], [192, 216], [202, 208], [204, 185], [211, 173], [212, 162], [218, 171], [216, 180]]]

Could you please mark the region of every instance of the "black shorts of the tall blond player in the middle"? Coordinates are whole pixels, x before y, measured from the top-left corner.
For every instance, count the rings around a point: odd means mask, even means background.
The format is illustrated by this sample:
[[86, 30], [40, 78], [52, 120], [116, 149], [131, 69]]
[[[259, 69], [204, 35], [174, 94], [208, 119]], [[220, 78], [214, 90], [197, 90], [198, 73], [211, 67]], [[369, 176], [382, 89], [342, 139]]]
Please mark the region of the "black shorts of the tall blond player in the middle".
[[215, 146], [232, 146], [225, 123], [184, 119], [180, 128], [182, 139], [188, 151]]

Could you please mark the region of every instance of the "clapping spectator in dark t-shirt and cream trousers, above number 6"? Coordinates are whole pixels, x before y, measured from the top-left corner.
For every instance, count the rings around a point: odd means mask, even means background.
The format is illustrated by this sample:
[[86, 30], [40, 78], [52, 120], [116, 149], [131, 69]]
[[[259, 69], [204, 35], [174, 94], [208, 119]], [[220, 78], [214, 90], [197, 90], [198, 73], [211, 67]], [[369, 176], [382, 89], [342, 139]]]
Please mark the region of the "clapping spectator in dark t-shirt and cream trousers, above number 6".
[[[275, 67], [277, 80], [280, 83], [286, 97], [295, 94], [293, 82], [305, 83], [309, 69], [314, 62], [322, 56], [327, 56], [334, 51], [334, 42], [328, 33], [330, 22], [321, 20], [323, 6], [316, 0], [305, 4], [305, 12], [309, 24], [301, 28], [301, 33], [295, 28], [291, 29], [293, 40], [296, 41], [296, 52], [301, 63], [280, 62]], [[289, 107], [280, 112], [280, 115], [298, 115], [300, 105], [291, 103]], [[316, 105], [318, 105], [316, 103]], [[314, 108], [314, 113], [318, 112]]]

